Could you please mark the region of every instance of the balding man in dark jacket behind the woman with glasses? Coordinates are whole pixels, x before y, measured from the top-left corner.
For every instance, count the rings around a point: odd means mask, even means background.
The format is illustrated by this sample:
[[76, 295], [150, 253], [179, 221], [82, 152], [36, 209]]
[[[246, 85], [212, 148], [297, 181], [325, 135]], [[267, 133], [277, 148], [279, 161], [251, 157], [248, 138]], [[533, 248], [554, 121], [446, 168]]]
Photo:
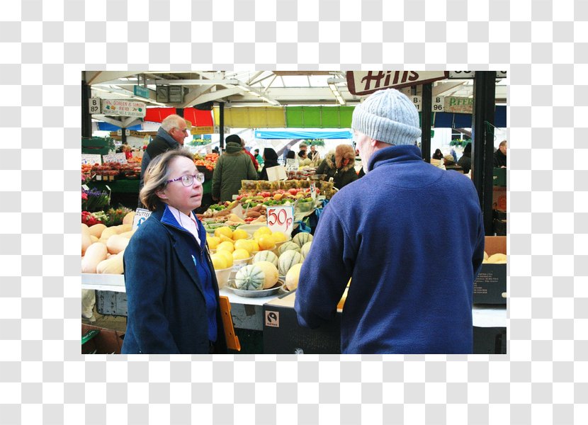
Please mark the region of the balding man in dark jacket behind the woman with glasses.
[[[167, 152], [169, 149], [180, 149], [186, 137], [188, 137], [188, 126], [180, 115], [168, 115], [162, 120], [162, 126], [157, 130], [157, 135], [149, 142], [147, 149], [143, 152], [139, 191], [143, 187], [143, 176], [145, 176], [145, 171], [149, 163], [155, 157]], [[139, 200], [139, 207], [142, 207], [141, 200]]]

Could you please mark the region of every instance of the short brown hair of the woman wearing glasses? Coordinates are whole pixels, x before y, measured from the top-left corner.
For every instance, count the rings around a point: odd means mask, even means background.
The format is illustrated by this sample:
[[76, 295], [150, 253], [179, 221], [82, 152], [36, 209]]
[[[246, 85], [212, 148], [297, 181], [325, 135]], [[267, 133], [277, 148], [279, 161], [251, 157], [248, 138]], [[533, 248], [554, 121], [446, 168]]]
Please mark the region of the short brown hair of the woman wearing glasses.
[[149, 211], [157, 210], [157, 207], [162, 203], [162, 200], [157, 196], [157, 192], [162, 191], [167, 185], [170, 174], [169, 164], [178, 157], [194, 160], [188, 149], [172, 149], [158, 155], [152, 162], [149, 162], [149, 166], [145, 170], [145, 176], [143, 176], [143, 188], [139, 193], [141, 202]]

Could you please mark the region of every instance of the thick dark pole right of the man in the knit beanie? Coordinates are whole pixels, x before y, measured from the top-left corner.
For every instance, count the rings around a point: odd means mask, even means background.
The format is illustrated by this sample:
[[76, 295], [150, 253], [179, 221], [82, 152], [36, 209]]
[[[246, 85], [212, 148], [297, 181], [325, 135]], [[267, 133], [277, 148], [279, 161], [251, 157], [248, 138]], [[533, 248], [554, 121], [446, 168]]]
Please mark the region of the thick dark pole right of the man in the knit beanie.
[[480, 197], [485, 234], [492, 232], [492, 155], [494, 154], [494, 103], [496, 72], [476, 71], [472, 118], [472, 180]]

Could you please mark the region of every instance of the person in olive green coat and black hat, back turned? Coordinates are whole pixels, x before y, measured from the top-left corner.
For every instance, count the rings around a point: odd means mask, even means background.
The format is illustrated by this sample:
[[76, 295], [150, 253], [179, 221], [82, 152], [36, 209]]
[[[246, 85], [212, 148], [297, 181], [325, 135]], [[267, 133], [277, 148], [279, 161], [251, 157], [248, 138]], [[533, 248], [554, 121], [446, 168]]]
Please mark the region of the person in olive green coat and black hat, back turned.
[[257, 180], [251, 157], [243, 151], [239, 136], [227, 137], [227, 149], [217, 159], [213, 173], [213, 200], [232, 200], [233, 195], [239, 193], [242, 180]]

